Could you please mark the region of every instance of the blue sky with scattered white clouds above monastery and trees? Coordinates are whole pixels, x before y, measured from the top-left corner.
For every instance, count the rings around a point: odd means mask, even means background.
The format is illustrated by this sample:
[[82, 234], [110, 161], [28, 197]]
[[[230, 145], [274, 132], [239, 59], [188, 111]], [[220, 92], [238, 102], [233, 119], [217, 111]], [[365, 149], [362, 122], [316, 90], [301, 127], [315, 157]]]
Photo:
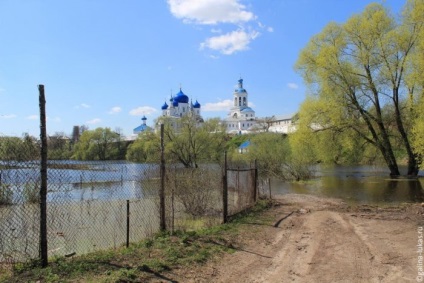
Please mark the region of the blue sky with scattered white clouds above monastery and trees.
[[0, 0], [0, 136], [73, 126], [131, 135], [182, 91], [225, 118], [244, 80], [257, 117], [298, 111], [299, 52], [330, 22], [405, 0]]

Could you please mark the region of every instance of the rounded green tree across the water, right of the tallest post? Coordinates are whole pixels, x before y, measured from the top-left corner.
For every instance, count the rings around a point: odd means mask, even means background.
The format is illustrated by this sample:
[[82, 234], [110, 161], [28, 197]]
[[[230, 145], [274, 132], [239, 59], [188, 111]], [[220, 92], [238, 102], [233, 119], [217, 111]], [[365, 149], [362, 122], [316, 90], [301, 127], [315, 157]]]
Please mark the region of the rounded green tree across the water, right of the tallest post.
[[120, 136], [110, 128], [85, 130], [74, 148], [74, 159], [116, 160], [119, 159]]

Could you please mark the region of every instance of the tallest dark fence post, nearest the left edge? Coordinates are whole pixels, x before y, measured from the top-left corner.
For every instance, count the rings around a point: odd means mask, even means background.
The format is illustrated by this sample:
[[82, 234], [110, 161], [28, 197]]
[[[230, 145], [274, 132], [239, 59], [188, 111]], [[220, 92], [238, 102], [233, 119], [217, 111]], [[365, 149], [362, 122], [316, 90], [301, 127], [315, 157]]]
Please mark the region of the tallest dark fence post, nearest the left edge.
[[40, 140], [41, 140], [41, 186], [40, 186], [40, 260], [41, 266], [48, 265], [47, 249], [47, 129], [46, 99], [44, 85], [38, 86], [40, 104]]

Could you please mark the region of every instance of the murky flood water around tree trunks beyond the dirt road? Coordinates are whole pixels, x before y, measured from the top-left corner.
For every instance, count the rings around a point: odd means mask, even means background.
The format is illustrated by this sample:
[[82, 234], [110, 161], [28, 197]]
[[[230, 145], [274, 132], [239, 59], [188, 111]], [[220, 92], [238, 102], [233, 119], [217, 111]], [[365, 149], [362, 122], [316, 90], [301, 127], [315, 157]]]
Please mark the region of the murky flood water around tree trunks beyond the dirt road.
[[[424, 177], [391, 179], [384, 167], [319, 167], [317, 177], [303, 182], [271, 180], [273, 194], [314, 194], [350, 204], [390, 205], [424, 202]], [[420, 176], [424, 172], [420, 171]]]

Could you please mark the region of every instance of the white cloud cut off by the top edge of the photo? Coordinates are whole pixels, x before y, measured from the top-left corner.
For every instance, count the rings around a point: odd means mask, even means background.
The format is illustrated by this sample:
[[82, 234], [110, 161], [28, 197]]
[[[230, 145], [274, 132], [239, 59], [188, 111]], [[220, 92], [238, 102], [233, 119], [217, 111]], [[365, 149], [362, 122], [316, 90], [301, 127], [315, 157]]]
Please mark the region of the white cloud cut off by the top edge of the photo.
[[256, 19], [239, 0], [168, 0], [174, 17], [185, 23], [212, 25], [243, 23]]

